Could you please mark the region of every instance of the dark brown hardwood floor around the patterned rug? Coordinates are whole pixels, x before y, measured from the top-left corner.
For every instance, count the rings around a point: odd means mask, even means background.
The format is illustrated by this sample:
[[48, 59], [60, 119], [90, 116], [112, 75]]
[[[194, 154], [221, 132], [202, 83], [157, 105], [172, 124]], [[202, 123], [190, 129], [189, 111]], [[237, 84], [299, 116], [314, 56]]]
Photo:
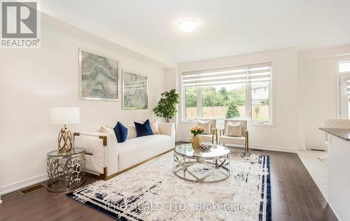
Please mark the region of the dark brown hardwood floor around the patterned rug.
[[[296, 154], [251, 152], [270, 156], [272, 220], [337, 220]], [[87, 183], [94, 180], [87, 178]], [[64, 193], [55, 194], [45, 189], [25, 196], [11, 192], [1, 199], [0, 220], [113, 220], [69, 199]]]

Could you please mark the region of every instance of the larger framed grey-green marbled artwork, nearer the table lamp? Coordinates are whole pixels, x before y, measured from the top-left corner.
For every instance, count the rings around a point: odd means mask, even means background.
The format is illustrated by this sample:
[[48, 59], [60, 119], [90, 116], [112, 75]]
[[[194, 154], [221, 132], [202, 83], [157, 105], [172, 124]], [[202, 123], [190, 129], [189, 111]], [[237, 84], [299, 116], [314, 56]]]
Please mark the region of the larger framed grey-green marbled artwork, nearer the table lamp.
[[79, 99], [118, 101], [119, 62], [79, 49]]

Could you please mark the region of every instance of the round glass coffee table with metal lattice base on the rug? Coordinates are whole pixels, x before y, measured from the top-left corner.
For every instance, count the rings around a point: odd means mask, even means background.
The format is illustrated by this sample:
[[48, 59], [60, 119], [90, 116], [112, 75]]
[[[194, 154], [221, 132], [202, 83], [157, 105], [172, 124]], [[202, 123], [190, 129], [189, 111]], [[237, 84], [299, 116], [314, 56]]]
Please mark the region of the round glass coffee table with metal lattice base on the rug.
[[174, 149], [174, 174], [195, 183], [216, 183], [230, 177], [230, 150], [210, 144], [207, 152], [195, 151], [190, 143]]

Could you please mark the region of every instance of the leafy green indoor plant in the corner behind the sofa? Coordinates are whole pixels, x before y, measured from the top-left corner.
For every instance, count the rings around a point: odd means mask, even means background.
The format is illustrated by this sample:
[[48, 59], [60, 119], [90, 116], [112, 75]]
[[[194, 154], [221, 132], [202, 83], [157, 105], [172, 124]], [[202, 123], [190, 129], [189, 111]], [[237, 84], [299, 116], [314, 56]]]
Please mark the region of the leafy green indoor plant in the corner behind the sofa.
[[153, 108], [153, 112], [157, 117], [164, 117], [165, 121], [169, 123], [169, 120], [175, 116], [176, 104], [179, 104], [179, 94], [176, 93], [175, 89], [170, 90], [169, 92], [162, 92], [162, 97], [158, 101], [157, 106]]

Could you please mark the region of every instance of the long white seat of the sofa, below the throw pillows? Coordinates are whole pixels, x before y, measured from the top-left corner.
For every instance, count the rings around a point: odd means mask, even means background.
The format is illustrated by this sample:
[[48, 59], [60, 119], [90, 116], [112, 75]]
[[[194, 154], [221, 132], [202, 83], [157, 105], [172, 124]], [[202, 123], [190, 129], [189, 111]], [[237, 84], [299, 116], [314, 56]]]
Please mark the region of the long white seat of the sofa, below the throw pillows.
[[127, 169], [172, 148], [172, 137], [164, 134], [140, 136], [118, 145], [119, 170]]

